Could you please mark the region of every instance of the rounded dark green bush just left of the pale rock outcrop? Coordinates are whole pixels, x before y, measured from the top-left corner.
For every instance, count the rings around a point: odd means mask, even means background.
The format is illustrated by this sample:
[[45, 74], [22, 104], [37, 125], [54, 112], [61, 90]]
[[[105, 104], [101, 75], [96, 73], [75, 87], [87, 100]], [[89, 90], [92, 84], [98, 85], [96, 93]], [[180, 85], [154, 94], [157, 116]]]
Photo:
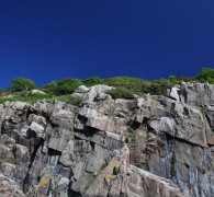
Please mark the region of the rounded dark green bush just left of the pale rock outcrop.
[[72, 78], [63, 79], [60, 81], [57, 81], [56, 93], [70, 94], [80, 85], [82, 85], [82, 82], [78, 79]]

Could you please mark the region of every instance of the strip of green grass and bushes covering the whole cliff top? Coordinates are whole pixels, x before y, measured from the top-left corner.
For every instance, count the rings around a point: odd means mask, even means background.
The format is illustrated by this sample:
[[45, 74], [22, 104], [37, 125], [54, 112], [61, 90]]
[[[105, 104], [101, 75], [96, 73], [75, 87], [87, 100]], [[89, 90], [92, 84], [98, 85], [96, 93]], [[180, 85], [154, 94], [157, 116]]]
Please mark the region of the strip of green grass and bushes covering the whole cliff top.
[[0, 89], [0, 103], [3, 103], [4, 101], [24, 101], [33, 103], [43, 99], [58, 99], [66, 103], [78, 104], [80, 101], [76, 100], [74, 96], [70, 96], [70, 94], [79, 85], [92, 86], [97, 84], [115, 86], [116, 89], [108, 91], [113, 99], [133, 99], [134, 94], [143, 95], [144, 93], [150, 93], [153, 95], [166, 95], [167, 89], [173, 85], [179, 85], [183, 81], [190, 83], [209, 82], [214, 84], [214, 69], [203, 68], [195, 78], [170, 76], [169, 79], [158, 79], [151, 81], [128, 77], [115, 77], [109, 79], [91, 77], [85, 80], [66, 78], [60, 81], [53, 81], [45, 84], [41, 90], [47, 95], [30, 94], [29, 91], [38, 89], [35, 82], [31, 79], [16, 78], [11, 80], [11, 86], [8, 90]]

